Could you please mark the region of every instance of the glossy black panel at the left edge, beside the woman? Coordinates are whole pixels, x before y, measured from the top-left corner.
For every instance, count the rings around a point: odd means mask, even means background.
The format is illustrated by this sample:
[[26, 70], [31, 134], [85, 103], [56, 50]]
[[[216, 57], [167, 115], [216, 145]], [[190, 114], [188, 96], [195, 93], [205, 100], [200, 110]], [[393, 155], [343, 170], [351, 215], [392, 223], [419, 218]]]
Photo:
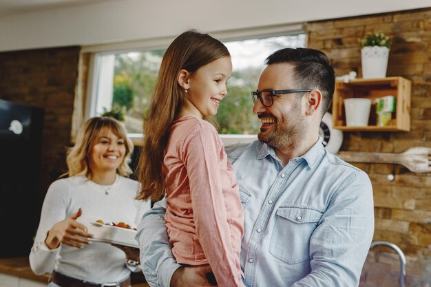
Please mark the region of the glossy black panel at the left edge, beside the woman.
[[41, 209], [43, 114], [38, 107], [0, 100], [0, 220], [2, 230], [13, 234], [1, 237], [0, 258], [28, 256], [33, 244]]

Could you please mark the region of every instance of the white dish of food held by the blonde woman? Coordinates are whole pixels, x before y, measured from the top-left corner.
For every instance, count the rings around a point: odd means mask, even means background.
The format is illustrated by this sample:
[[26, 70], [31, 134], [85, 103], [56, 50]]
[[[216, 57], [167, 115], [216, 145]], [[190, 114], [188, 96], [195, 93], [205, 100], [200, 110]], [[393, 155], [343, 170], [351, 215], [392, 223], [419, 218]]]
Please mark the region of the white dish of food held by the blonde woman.
[[135, 240], [137, 231], [134, 229], [110, 226], [98, 222], [91, 222], [87, 228], [88, 233], [94, 235], [90, 240], [139, 248], [138, 242]]

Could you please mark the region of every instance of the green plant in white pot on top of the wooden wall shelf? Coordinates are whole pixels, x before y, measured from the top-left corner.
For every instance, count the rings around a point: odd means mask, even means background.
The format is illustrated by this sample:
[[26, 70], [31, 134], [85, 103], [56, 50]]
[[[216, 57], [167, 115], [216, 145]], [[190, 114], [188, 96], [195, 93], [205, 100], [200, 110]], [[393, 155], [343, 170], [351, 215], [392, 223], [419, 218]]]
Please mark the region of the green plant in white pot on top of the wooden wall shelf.
[[360, 40], [362, 78], [385, 78], [390, 40], [383, 33], [368, 33]]

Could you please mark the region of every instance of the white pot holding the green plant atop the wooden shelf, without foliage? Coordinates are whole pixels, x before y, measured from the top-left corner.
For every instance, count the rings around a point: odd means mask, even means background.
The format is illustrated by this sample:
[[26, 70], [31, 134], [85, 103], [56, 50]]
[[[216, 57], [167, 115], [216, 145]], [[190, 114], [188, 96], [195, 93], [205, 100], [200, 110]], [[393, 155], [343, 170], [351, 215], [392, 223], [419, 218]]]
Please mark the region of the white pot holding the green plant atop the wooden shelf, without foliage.
[[388, 58], [388, 47], [363, 47], [361, 49], [362, 78], [385, 78]]

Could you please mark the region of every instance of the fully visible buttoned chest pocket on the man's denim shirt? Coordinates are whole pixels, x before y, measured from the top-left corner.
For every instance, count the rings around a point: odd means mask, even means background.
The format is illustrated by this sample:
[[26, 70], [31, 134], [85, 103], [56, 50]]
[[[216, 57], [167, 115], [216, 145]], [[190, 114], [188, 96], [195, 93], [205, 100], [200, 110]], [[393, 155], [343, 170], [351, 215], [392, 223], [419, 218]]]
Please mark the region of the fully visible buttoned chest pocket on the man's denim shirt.
[[323, 213], [283, 206], [277, 209], [269, 253], [288, 264], [310, 260], [310, 239]]

